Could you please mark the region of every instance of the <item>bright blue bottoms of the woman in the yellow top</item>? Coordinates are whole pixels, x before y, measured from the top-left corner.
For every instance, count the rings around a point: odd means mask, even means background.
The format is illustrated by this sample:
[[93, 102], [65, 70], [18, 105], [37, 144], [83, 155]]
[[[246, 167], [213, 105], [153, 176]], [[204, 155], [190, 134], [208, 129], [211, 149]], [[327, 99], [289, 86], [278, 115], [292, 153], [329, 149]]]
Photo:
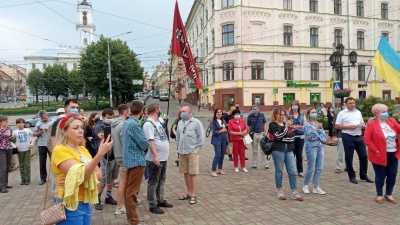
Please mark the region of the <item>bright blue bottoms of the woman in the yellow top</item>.
[[[57, 198], [56, 202], [62, 202], [61, 198]], [[65, 208], [66, 220], [57, 223], [57, 225], [90, 225], [92, 220], [92, 206], [89, 203], [78, 203], [75, 211]]]

